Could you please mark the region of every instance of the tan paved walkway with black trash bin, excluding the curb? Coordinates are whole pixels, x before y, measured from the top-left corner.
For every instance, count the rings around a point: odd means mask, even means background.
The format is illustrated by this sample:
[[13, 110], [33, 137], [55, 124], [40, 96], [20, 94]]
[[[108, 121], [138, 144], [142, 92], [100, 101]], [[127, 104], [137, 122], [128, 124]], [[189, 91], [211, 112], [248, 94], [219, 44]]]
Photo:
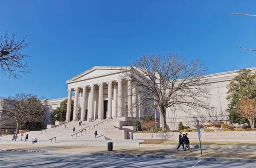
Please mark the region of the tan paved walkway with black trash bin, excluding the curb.
[[[50, 152], [75, 152], [75, 153], [108, 153], [108, 154], [141, 154], [141, 155], [166, 155], [166, 156], [201, 156], [200, 148], [192, 148], [193, 152], [176, 151], [175, 148], [166, 147], [116, 147], [113, 151], [107, 151], [106, 146], [57, 146], [46, 144], [0, 144], [1, 150], [24, 150], [24, 151], [50, 151]], [[203, 156], [209, 157], [233, 157], [256, 159], [254, 149], [202, 149]]]

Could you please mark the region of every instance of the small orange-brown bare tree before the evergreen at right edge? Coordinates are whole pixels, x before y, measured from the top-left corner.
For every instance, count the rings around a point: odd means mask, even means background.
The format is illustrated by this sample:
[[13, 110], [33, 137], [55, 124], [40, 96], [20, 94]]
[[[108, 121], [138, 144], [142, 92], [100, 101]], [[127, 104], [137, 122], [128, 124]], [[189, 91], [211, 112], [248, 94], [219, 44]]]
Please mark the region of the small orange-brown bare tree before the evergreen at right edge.
[[242, 99], [237, 103], [237, 108], [238, 112], [249, 120], [250, 126], [253, 129], [256, 120], [256, 99]]

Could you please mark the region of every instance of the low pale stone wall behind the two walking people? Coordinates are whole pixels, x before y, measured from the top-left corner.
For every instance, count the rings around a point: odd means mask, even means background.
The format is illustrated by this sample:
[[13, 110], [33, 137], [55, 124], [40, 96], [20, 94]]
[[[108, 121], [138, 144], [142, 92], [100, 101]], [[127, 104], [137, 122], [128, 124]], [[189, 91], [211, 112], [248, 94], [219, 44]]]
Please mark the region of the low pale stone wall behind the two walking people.
[[[186, 132], [183, 132], [186, 133]], [[133, 139], [151, 139], [150, 133], [133, 133]], [[197, 132], [188, 132], [189, 140], [198, 140]], [[179, 133], [153, 133], [153, 139], [178, 141]], [[205, 141], [247, 141], [256, 143], [256, 131], [201, 132]]]

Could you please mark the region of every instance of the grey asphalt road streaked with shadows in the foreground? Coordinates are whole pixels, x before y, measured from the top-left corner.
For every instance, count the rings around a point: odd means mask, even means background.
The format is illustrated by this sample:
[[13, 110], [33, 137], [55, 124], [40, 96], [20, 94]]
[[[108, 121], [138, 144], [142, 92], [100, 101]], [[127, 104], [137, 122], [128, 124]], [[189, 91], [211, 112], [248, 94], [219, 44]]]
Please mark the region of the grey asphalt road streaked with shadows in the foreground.
[[0, 151], [0, 168], [255, 168], [255, 163]]

